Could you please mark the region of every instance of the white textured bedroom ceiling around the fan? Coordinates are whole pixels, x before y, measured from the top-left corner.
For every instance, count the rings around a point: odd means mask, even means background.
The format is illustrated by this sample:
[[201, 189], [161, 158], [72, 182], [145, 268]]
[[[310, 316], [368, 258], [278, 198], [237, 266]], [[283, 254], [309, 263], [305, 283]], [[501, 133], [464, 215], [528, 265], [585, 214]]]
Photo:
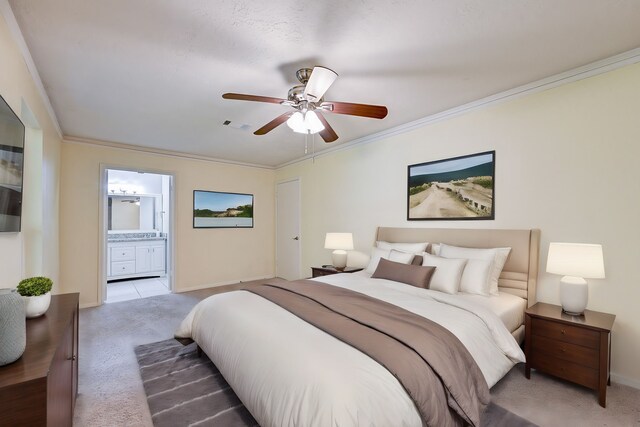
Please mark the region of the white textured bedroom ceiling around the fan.
[[[302, 66], [340, 75], [326, 114], [364, 137], [640, 46], [637, 0], [10, 0], [66, 136], [275, 166], [304, 155], [282, 125]], [[242, 131], [222, 122], [249, 124]], [[316, 137], [316, 151], [327, 146]]]

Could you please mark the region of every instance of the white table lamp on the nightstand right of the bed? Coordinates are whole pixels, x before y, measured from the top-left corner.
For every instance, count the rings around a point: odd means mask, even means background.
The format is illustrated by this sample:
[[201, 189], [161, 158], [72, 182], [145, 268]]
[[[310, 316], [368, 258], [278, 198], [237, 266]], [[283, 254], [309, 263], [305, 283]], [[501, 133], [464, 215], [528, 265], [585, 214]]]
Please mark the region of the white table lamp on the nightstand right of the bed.
[[549, 244], [547, 273], [560, 274], [560, 304], [562, 311], [573, 316], [587, 308], [587, 279], [604, 279], [602, 245], [585, 243]]

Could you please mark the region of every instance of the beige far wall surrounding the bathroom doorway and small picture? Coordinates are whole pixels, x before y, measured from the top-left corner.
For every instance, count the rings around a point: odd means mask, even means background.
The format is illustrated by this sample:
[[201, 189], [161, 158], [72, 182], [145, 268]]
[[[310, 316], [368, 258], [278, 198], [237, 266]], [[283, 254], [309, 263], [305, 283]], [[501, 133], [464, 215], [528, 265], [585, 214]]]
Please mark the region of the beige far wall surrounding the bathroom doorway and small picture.
[[[175, 175], [177, 292], [273, 277], [273, 170], [65, 142], [60, 187], [61, 283], [64, 292], [80, 292], [82, 306], [99, 302], [101, 164]], [[254, 228], [194, 230], [193, 190], [253, 194]]]

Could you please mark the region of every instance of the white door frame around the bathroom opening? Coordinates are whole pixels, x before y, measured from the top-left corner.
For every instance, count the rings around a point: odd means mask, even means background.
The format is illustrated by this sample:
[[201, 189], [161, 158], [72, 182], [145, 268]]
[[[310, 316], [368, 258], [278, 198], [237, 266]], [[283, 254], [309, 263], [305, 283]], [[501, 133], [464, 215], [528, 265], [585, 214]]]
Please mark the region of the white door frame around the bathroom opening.
[[156, 175], [170, 176], [169, 180], [169, 236], [167, 236], [167, 279], [169, 280], [169, 291], [175, 292], [175, 248], [176, 248], [176, 195], [175, 181], [176, 172], [161, 169], [136, 168], [132, 166], [123, 166], [109, 163], [100, 163], [100, 197], [98, 202], [98, 305], [104, 304], [107, 298], [107, 228], [108, 228], [108, 206], [107, 197], [109, 196], [109, 177], [107, 170], [121, 170], [127, 172], [144, 172]]

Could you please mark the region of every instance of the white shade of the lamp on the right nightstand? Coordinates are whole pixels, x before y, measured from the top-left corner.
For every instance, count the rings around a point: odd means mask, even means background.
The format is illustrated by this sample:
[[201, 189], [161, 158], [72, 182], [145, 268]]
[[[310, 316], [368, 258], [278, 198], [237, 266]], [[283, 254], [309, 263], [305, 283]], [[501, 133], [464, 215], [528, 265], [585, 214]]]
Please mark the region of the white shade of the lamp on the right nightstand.
[[604, 279], [602, 245], [550, 243], [547, 273], [586, 279]]

